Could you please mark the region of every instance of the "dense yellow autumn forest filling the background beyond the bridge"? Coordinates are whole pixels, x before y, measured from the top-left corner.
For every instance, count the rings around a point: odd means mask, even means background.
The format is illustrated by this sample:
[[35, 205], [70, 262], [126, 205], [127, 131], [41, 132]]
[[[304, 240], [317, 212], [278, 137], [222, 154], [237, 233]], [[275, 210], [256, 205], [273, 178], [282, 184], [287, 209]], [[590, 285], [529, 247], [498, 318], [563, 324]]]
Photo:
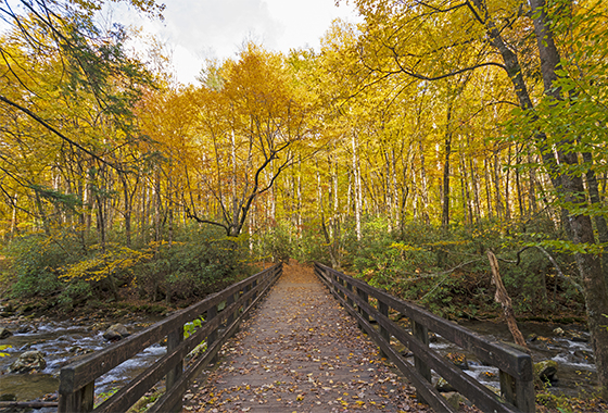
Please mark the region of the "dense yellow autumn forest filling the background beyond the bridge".
[[102, 3], [0, 3], [2, 297], [173, 304], [293, 258], [491, 316], [490, 250], [518, 316], [588, 323], [606, 389], [605, 1], [355, 0], [189, 86]]

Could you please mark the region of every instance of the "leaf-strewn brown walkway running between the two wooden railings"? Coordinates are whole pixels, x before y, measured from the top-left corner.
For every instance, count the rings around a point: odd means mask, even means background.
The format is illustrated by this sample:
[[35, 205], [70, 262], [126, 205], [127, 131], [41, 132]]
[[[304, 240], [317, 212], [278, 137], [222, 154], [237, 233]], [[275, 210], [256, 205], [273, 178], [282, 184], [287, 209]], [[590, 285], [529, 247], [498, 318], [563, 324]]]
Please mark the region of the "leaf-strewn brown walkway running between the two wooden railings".
[[286, 265], [221, 353], [185, 412], [428, 411], [311, 267]]

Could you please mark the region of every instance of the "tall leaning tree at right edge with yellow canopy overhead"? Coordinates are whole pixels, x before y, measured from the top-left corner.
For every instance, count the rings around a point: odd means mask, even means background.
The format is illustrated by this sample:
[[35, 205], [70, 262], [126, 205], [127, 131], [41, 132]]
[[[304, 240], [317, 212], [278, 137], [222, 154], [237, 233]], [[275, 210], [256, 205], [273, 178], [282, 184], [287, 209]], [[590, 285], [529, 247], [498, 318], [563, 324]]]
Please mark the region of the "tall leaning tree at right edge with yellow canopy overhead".
[[[581, 87], [588, 83], [581, 79], [593, 70], [582, 66], [574, 76], [563, 70], [565, 60], [581, 57], [591, 43], [604, 47], [596, 30], [605, 16], [592, 12], [594, 17], [586, 21], [584, 27], [588, 32], [584, 33], [572, 29], [572, 23], [593, 11], [594, 2], [360, 0], [356, 4], [366, 18], [359, 61], [370, 76], [404, 74], [419, 80], [456, 82], [458, 75], [495, 67], [510, 80], [519, 113], [531, 125], [520, 129], [521, 138], [532, 138], [565, 211], [563, 224], [584, 285], [600, 384], [608, 391], [608, 351], [600, 345], [608, 341], [604, 327], [604, 314], [608, 314], [604, 274], [608, 268], [603, 268], [598, 255], [601, 249], [595, 247], [592, 222], [592, 215], [605, 214], [594, 189], [598, 163], [580, 145], [581, 136], [575, 128], [547, 127], [539, 112], [546, 109], [553, 116], [560, 116], [560, 110], [567, 113], [569, 108], [577, 107], [579, 96], [588, 93], [588, 89]], [[535, 38], [535, 43], [531, 38]], [[454, 60], [454, 55], [469, 58], [463, 62]], [[533, 73], [542, 75], [542, 85], [536, 85]], [[565, 83], [569, 85], [566, 88]], [[587, 171], [586, 183], [581, 170]], [[597, 228], [604, 230], [601, 218]]]

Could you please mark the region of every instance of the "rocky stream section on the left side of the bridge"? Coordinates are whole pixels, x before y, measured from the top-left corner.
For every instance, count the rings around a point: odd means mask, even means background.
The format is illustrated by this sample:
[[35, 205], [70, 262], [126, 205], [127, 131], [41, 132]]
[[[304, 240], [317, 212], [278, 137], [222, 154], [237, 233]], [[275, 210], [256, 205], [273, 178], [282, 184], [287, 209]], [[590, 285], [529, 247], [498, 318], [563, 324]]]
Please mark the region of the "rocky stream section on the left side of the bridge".
[[[157, 320], [147, 316], [119, 320], [126, 329], [122, 333], [135, 334]], [[3, 353], [0, 358], [0, 400], [56, 400], [61, 368], [117, 340], [116, 333], [113, 336], [107, 333], [109, 327], [116, 322], [101, 316], [64, 321], [46, 317], [28, 320], [23, 316], [0, 320], [0, 334], [2, 328], [9, 331], [0, 339], [0, 349], [5, 347], [0, 350]], [[113, 392], [165, 353], [164, 347], [151, 346], [97, 379], [96, 393]], [[37, 363], [35, 359], [38, 355], [35, 354], [40, 354], [43, 363]], [[24, 364], [24, 355], [29, 355], [31, 362], [25, 361], [26, 372], [21, 373], [15, 365]]]

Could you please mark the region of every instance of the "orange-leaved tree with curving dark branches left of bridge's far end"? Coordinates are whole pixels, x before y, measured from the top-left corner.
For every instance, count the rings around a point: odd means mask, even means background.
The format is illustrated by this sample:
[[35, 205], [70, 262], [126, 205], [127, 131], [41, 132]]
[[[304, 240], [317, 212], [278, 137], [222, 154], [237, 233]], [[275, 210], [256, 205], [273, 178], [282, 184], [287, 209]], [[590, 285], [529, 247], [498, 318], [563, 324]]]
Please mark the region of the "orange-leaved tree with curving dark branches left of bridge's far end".
[[236, 237], [256, 198], [293, 164], [297, 145], [311, 132], [309, 103], [290, 79], [282, 57], [254, 45], [238, 61], [226, 61], [217, 74], [220, 82], [206, 77], [198, 91], [193, 139], [199, 160], [190, 182], [213, 197], [218, 211], [215, 216], [201, 211], [194, 192], [186, 202], [194, 220]]

